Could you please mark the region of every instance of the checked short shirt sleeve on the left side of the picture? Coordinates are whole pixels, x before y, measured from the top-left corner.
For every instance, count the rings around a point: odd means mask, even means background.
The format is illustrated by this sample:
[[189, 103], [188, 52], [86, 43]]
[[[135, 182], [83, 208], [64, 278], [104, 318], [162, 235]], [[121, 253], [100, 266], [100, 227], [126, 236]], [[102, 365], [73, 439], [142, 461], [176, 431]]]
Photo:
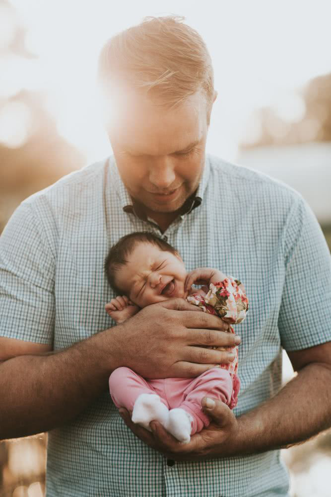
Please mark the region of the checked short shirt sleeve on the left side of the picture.
[[0, 237], [0, 336], [53, 345], [55, 257], [30, 203]]

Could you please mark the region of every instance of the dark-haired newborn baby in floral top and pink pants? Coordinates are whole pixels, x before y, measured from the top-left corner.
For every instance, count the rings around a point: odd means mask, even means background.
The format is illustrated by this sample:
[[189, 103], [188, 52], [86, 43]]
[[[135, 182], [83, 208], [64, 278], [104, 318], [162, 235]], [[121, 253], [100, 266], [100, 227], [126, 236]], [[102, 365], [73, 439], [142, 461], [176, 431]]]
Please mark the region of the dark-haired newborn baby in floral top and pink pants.
[[[117, 324], [147, 305], [175, 297], [187, 299], [230, 324], [243, 321], [248, 311], [240, 281], [210, 268], [198, 268], [188, 274], [177, 250], [152, 233], [122, 237], [110, 249], [105, 270], [111, 287], [122, 295], [105, 306]], [[193, 283], [208, 286], [192, 289]], [[229, 332], [234, 333], [231, 326]], [[117, 408], [124, 407], [132, 413], [134, 423], [150, 430], [150, 421], [157, 420], [177, 440], [188, 443], [191, 435], [209, 424], [201, 409], [203, 397], [220, 399], [230, 409], [237, 404], [238, 347], [218, 349], [233, 352], [234, 360], [197, 378], [145, 380], [131, 369], [120, 367], [109, 378], [112, 400]]]

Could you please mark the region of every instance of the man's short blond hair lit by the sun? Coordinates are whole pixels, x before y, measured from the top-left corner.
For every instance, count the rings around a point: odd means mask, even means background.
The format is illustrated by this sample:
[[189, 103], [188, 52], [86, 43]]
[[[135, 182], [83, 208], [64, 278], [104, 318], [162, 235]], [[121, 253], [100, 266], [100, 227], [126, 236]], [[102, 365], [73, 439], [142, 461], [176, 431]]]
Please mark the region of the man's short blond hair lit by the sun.
[[125, 81], [156, 104], [171, 108], [200, 90], [211, 109], [211, 58], [199, 33], [184, 19], [148, 16], [110, 38], [101, 50], [98, 68], [105, 94], [112, 80]]

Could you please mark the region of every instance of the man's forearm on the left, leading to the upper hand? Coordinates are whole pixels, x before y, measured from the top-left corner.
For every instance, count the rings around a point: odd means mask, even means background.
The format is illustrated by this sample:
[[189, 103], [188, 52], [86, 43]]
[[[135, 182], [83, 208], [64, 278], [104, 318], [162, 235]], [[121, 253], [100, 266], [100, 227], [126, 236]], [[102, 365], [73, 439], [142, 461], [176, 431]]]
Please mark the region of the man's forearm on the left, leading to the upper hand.
[[58, 352], [1, 363], [0, 439], [60, 426], [106, 391], [117, 367], [115, 340], [112, 347], [109, 332], [102, 331]]

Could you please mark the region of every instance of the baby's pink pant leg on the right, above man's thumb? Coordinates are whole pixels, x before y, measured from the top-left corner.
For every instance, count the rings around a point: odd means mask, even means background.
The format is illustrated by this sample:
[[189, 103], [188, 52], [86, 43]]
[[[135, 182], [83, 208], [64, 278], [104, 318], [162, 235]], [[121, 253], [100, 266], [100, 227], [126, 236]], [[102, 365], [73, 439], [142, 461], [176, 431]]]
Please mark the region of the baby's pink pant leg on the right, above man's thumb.
[[193, 417], [192, 432], [197, 433], [203, 426], [208, 426], [210, 420], [202, 412], [203, 397], [212, 397], [229, 405], [231, 402], [233, 381], [230, 373], [222, 368], [212, 368], [195, 378], [184, 392], [185, 400], [179, 406]]

